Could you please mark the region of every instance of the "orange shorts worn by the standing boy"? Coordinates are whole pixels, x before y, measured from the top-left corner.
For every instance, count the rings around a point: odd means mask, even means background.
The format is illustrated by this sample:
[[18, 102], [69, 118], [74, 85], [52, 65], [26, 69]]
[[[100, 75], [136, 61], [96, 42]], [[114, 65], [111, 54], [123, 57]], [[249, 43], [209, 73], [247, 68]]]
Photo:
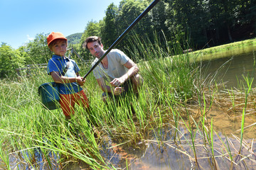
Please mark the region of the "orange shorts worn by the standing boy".
[[84, 108], [89, 108], [89, 101], [83, 90], [75, 94], [60, 94], [60, 108], [65, 116], [75, 114], [75, 103]]

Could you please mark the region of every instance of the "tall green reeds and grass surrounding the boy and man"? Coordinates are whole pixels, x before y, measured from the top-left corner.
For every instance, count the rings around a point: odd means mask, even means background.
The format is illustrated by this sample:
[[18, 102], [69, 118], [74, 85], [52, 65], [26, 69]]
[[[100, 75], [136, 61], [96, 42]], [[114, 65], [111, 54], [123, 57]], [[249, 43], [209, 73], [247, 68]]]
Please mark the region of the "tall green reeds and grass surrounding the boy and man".
[[[184, 137], [196, 162], [197, 137], [203, 138], [204, 147], [210, 147], [208, 152], [214, 159], [213, 120], [211, 124], [207, 122], [207, 113], [213, 105], [216, 91], [205, 88], [213, 84], [214, 79], [206, 81], [201, 78], [200, 68], [188, 60], [188, 55], [180, 54], [181, 45], [170, 47], [168, 42], [161, 42], [157, 37], [151, 42], [149, 38], [137, 35], [131, 44], [129, 52], [138, 62], [144, 78], [139, 98], [131, 94], [105, 104], [101, 99], [102, 91], [90, 74], [83, 86], [90, 101], [90, 111], [75, 106], [75, 115], [68, 123], [60, 109], [49, 111], [41, 105], [38, 86], [52, 81], [45, 70], [38, 69], [30, 77], [23, 75], [18, 81], [0, 80], [1, 144], [11, 146], [11, 154], [22, 154], [33, 168], [38, 168], [34, 162], [35, 149], [41, 149], [50, 169], [53, 169], [51, 162], [54, 161], [49, 157], [50, 153], [58, 155], [60, 165], [81, 161], [91, 169], [114, 169], [112, 163], [100, 154], [106, 136], [115, 140], [117, 146], [122, 146], [137, 145], [149, 140], [154, 133], [160, 146], [164, 145], [161, 131], [165, 125], [171, 125], [175, 130], [172, 134], [175, 143], [183, 145], [181, 138]], [[89, 69], [83, 66], [81, 63], [81, 75]], [[208, 96], [204, 90], [208, 91]], [[188, 110], [189, 101], [198, 102], [201, 111], [198, 119], [193, 118], [193, 113]], [[182, 123], [188, 130], [188, 136], [181, 133]], [[229, 145], [225, 148], [231, 157], [230, 149], [227, 149]], [[0, 149], [0, 156], [7, 158], [6, 147]], [[183, 153], [192, 158], [187, 152]], [[8, 160], [4, 159], [4, 163], [10, 166]]]

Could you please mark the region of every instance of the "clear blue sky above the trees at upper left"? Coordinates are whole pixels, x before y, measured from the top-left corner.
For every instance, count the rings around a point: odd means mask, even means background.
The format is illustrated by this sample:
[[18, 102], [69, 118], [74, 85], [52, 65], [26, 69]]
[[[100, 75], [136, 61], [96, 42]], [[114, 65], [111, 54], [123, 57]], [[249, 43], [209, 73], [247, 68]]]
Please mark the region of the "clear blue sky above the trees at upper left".
[[100, 21], [111, 3], [121, 0], [0, 0], [0, 45], [14, 49], [38, 33], [82, 33], [88, 21]]

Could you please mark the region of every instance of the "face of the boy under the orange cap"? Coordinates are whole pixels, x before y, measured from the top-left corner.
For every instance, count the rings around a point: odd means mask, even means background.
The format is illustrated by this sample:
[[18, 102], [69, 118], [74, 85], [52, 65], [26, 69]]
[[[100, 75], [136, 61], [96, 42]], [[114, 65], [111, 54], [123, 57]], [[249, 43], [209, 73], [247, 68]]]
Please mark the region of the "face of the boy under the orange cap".
[[50, 48], [52, 52], [54, 52], [55, 55], [58, 55], [60, 57], [64, 57], [65, 53], [67, 52], [67, 44], [66, 40], [55, 40], [53, 42], [53, 46]]

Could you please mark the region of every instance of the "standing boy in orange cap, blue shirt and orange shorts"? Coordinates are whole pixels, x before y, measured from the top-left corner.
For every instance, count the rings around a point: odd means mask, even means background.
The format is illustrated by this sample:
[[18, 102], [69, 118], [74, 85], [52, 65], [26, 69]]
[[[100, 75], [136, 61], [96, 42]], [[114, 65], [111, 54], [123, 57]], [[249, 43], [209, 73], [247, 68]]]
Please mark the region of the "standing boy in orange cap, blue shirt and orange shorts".
[[75, 103], [89, 108], [89, 101], [80, 86], [85, 83], [79, 75], [78, 64], [74, 60], [65, 57], [67, 51], [67, 38], [62, 33], [50, 33], [47, 37], [48, 47], [54, 53], [48, 61], [48, 74], [55, 83], [60, 85], [60, 108], [63, 110], [66, 120], [75, 113]]

